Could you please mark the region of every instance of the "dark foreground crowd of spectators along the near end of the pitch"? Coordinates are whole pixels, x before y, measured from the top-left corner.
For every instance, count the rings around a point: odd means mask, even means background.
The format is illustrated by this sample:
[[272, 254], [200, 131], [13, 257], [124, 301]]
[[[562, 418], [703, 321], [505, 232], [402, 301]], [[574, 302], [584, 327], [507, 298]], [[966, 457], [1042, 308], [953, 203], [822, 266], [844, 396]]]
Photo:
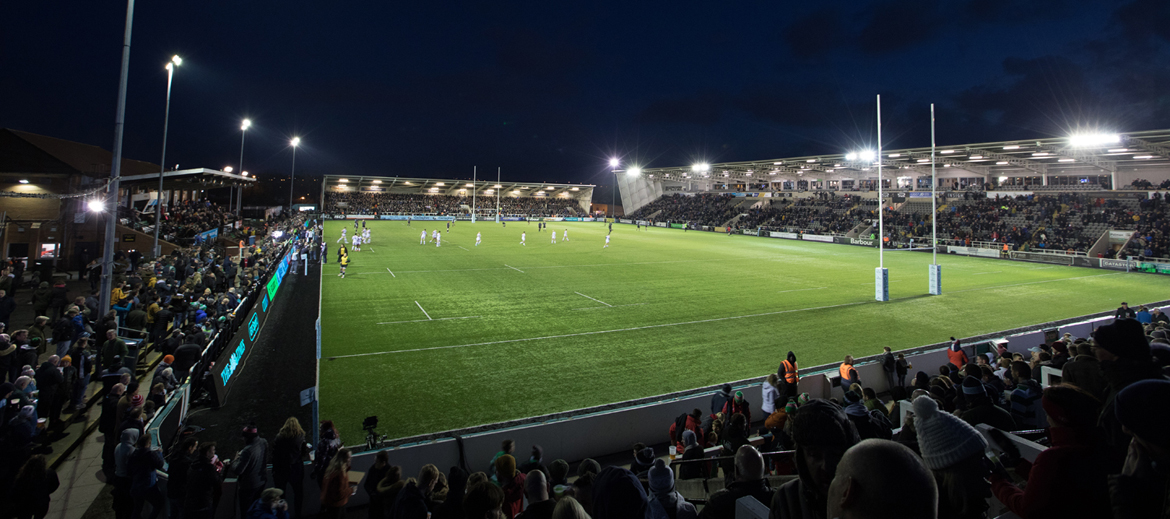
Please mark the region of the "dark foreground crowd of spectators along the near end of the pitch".
[[[1155, 312], [1143, 324], [1129, 309], [1117, 314], [1092, 338], [1065, 334], [1027, 354], [1000, 346], [972, 359], [952, 338], [949, 362], [936, 374], [915, 373], [887, 347], [875, 361], [885, 380], [873, 386], [846, 357], [840, 399], [798, 394], [799, 366], [789, 352], [762, 385], [758, 413], [743, 390], [724, 385], [709, 409], [663, 424], [666, 450], [676, 457], [636, 443], [627, 462], [608, 466], [587, 458], [572, 469], [541, 445], [525, 457], [504, 441], [482, 464], [461, 455], [446, 472], [427, 464], [415, 477], [383, 450], [356, 483], [353, 452], [329, 421], [321, 423], [311, 457], [296, 418], [270, 442], [247, 425], [246, 447], [230, 466], [218, 462], [214, 443], [195, 436], [179, 440], [164, 461], [129, 428], [117, 451], [118, 477], [146, 491], [115, 507], [119, 517], [137, 517], [146, 501], [163, 506], [160, 491], [150, 489], [151, 475], [165, 466], [166, 498], [184, 518], [212, 515], [227, 473], [239, 482], [241, 517], [303, 515], [305, 470], [319, 485], [308, 491], [319, 492], [324, 518], [343, 518], [359, 486], [370, 519], [731, 519], [744, 497], [772, 519], [983, 518], [991, 497], [1024, 519], [1165, 517], [1170, 435], [1157, 406], [1170, 401], [1170, 318]], [[1060, 371], [1061, 383], [1040, 387], [1045, 366]], [[893, 388], [890, 401], [874, 386]], [[913, 413], [896, 424], [895, 402], [904, 400]], [[976, 425], [991, 429], [985, 436]], [[1004, 431], [1037, 438], [1045, 450], [1028, 462]], [[676, 482], [721, 471], [722, 490], [707, 499], [677, 490]]]

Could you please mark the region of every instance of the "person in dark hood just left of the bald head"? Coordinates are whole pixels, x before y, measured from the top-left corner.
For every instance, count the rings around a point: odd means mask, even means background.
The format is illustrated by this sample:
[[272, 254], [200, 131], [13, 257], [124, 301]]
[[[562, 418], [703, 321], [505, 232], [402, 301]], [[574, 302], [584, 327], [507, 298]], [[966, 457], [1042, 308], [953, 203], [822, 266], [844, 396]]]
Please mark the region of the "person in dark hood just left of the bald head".
[[792, 421], [798, 478], [772, 497], [770, 519], [825, 519], [828, 487], [845, 451], [861, 441], [845, 410], [827, 400], [800, 406]]

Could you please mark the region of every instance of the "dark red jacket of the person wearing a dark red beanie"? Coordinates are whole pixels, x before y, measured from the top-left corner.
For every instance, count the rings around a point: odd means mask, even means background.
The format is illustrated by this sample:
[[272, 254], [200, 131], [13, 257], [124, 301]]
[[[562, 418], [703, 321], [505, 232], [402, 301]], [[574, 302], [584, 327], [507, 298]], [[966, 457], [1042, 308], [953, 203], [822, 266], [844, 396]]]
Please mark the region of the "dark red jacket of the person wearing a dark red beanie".
[[1027, 489], [992, 476], [996, 499], [1021, 519], [1113, 517], [1096, 429], [1053, 427], [1048, 434], [1052, 447], [1034, 463], [1020, 461], [1016, 466], [1027, 478]]

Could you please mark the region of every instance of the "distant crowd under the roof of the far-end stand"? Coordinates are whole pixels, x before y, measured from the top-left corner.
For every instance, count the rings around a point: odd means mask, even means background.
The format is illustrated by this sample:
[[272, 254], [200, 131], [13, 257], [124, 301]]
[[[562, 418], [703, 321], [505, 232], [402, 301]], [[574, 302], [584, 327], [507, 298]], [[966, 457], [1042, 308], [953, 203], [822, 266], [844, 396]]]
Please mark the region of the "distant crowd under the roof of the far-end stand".
[[[470, 214], [470, 196], [402, 193], [335, 193], [325, 194], [325, 214], [367, 215], [463, 215]], [[496, 199], [476, 200], [480, 215], [495, 215]], [[500, 213], [524, 216], [585, 216], [576, 200], [551, 196], [502, 196]]]

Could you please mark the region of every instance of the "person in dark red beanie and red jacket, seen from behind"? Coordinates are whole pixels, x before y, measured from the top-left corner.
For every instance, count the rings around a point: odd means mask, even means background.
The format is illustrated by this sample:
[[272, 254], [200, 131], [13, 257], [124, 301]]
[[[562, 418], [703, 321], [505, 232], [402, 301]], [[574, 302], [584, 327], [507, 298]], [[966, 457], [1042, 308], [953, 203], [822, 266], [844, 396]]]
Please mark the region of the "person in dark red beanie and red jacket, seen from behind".
[[1075, 386], [1048, 387], [1041, 402], [1052, 425], [1051, 447], [1035, 462], [1010, 461], [1027, 479], [1026, 490], [1000, 470], [991, 476], [992, 492], [1021, 519], [1109, 517], [1106, 459], [1095, 429], [1101, 402]]

